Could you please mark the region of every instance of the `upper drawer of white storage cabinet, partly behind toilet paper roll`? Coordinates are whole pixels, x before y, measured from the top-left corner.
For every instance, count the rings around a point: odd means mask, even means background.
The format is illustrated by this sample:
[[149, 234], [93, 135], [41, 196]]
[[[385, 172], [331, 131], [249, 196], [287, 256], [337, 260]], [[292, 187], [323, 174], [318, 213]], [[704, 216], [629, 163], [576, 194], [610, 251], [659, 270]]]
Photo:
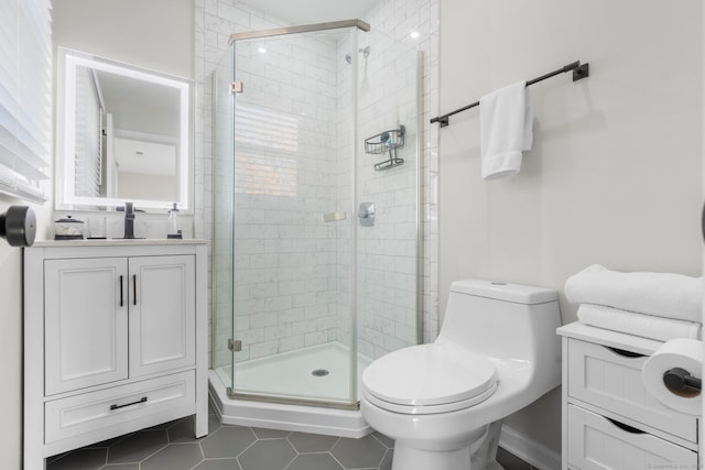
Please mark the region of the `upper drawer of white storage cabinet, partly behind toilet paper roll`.
[[697, 419], [662, 405], [643, 386], [647, 359], [568, 339], [568, 396], [696, 442]]

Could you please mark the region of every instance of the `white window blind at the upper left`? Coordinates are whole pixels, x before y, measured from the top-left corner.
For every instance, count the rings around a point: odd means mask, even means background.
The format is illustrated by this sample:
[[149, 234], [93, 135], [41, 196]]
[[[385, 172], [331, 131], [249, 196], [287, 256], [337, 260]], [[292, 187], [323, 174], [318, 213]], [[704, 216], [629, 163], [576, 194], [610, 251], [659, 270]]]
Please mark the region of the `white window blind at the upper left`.
[[0, 0], [0, 192], [46, 200], [51, 120], [51, 1]]

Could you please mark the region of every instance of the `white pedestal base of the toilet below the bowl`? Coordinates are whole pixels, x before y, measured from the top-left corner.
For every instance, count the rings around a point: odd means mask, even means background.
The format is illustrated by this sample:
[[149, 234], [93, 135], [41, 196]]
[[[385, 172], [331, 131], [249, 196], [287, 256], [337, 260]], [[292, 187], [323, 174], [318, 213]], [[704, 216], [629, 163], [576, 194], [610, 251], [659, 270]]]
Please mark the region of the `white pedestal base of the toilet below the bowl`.
[[501, 420], [495, 422], [479, 438], [455, 449], [420, 449], [397, 440], [392, 470], [503, 470], [496, 460], [501, 426]]

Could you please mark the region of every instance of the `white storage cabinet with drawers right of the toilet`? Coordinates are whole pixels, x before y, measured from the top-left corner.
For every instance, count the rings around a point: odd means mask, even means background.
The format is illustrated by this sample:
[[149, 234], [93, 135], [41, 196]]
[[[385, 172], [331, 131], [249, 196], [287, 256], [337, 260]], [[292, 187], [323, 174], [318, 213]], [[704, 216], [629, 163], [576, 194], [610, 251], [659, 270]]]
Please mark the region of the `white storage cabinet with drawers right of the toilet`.
[[661, 404], [641, 380], [662, 342], [579, 323], [557, 332], [564, 470], [698, 468], [698, 418]]

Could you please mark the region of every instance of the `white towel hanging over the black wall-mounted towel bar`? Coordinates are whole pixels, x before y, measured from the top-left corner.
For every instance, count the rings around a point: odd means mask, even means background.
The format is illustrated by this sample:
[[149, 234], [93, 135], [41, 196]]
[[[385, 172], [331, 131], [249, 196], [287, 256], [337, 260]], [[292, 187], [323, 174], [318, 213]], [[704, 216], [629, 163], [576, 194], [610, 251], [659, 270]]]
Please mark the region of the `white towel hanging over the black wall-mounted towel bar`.
[[513, 175], [521, 170], [521, 152], [533, 143], [533, 111], [525, 81], [480, 98], [482, 178]]

